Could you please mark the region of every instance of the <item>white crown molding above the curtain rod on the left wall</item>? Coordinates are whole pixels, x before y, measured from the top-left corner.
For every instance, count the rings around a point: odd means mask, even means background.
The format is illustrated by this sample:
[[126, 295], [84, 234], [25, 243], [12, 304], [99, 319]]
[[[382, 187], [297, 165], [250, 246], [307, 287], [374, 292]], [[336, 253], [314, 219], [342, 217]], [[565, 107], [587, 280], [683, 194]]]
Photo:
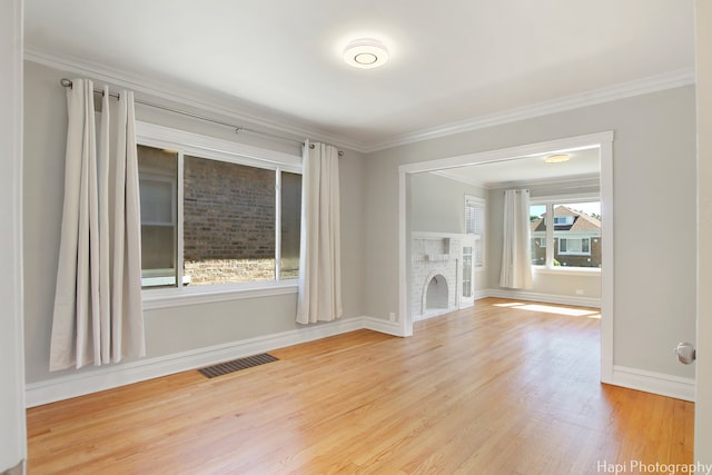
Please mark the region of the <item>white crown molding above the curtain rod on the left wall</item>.
[[82, 75], [97, 81], [131, 89], [138, 95], [145, 95], [151, 99], [162, 99], [215, 113], [222, 118], [237, 121], [240, 126], [258, 128], [269, 133], [285, 135], [288, 138], [298, 140], [309, 138], [325, 141], [339, 148], [346, 148], [362, 154], [365, 152], [365, 148], [359, 142], [299, 123], [298, 120], [285, 118], [278, 112], [258, 111], [236, 100], [226, 102], [226, 97], [218, 99], [209, 95], [196, 93], [195, 90], [157, 80], [148, 76], [128, 73], [77, 57], [49, 55], [31, 47], [24, 48], [23, 58], [26, 61], [36, 62], [60, 71]]

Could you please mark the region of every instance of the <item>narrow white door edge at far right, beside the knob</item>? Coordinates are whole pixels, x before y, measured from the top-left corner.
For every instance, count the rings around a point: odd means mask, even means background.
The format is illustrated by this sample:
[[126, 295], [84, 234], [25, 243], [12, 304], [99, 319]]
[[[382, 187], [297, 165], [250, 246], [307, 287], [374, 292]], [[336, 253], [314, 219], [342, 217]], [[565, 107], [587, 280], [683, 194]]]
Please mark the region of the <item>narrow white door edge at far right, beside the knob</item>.
[[696, 0], [698, 360], [695, 462], [712, 464], [712, 1]]

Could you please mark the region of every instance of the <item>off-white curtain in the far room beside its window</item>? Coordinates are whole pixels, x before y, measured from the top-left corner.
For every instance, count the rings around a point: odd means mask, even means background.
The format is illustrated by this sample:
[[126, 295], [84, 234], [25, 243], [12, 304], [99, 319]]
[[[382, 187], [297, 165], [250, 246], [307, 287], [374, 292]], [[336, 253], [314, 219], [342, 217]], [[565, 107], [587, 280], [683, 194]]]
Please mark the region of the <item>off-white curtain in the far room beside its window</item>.
[[530, 190], [506, 190], [500, 286], [532, 288], [530, 235]]

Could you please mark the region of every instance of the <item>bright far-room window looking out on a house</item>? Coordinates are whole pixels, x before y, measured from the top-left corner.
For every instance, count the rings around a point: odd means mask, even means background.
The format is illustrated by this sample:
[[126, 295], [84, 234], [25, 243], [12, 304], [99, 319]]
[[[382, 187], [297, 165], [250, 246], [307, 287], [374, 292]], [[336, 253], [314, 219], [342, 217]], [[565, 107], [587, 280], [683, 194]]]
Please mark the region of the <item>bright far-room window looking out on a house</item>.
[[601, 267], [601, 201], [532, 202], [532, 265]]

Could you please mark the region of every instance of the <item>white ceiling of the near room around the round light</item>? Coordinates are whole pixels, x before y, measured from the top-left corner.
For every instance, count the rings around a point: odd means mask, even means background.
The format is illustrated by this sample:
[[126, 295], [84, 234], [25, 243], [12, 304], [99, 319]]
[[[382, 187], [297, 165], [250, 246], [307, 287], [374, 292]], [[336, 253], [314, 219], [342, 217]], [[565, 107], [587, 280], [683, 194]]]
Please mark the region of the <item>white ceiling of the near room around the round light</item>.
[[[691, 77], [693, 11], [693, 0], [26, 0], [24, 41], [30, 59], [373, 150]], [[390, 61], [346, 66], [343, 47], [359, 37], [383, 40]]]

